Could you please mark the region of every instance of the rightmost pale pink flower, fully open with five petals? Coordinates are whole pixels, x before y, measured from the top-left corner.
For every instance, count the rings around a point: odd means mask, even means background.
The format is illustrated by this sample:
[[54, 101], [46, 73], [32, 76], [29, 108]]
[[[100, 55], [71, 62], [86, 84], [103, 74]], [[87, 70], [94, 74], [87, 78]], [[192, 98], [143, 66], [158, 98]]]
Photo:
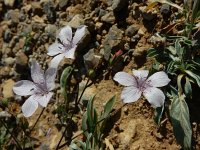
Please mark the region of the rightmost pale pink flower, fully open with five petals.
[[126, 86], [121, 94], [124, 103], [137, 101], [142, 93], [153, 107], [161, 107], [164, 104], [165, 95], [157, 87], [162, 87], [170, 82], [167, 74], [159, 71], [148, 79], [148, 70], [133, 70], [133, 75], [126, 72], [118, 72], [114, 80]]

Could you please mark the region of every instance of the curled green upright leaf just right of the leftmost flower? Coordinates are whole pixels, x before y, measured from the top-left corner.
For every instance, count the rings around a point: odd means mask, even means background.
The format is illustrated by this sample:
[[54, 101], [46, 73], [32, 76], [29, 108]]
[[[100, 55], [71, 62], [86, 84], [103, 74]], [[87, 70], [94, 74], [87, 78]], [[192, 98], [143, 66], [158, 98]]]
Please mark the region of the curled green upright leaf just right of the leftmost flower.
[[69, 81], [69, 77], [71, 76], [72, 71], [73, 71], [73, 68], [71, 66], [68, 66], [63, 70], [60, 77], [61, 93], [63, 94], [66, 101], [67, 101], [66, 89], [68, 88], [67, 82]]

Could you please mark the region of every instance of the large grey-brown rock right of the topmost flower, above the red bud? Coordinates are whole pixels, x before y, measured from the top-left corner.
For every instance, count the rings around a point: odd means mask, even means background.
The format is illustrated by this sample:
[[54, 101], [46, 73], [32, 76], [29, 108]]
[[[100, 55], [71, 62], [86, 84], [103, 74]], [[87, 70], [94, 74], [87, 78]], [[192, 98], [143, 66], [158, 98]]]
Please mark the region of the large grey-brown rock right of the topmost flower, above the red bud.
[[123, 31], [118, 29], [116, 25], [113, 25], [103, 41], [103, 54], [106, 60], [110, 58], [111, 51], [114, 51], [113, 53], [115, 53], [117, 50], [123, 48], [122, 38]]

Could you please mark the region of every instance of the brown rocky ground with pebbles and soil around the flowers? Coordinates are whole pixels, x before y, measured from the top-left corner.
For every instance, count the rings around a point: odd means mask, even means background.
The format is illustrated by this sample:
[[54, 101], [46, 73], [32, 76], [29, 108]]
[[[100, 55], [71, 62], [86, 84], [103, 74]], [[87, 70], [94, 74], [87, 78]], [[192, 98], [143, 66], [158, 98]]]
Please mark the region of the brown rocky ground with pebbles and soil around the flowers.
[[[182, 5], [181, 0], [175, 3]], [[58, 30], [65, 25], [73, 29], [87, 25], [88, 36], [81, 42], [78, 55], [82, 57], [90, 52], [84, 56], [88, 62], [93, 60], [91, 55], [99, 56], [99, 69], [105, 69], [103, 64], [118, 50], [127, 54], [125, 61], [114, 66], [111, 73], [98, 78], [83, 95], [83, 99], [89, 99], [96, 94], [98, 110], [113, 95], [116, 95], [114, 109], [122, 107], [122, 87], [112, 80], [113, 74], [120, 70], [131, 73], [133, 68], [149, 68], [151, 60], [146, 57], [147, 50], [165, 41], [155, 34], [162, 32], [178, 11], [159, 4], [147, 12], [146, 6], [146, 0], [0, 0], [0, 111], [6, 110], [23, 119], [20, 106], [26, 98], [14, 95], [12, 87], [21, 79], [30, 79], [31, 59], [36, 59], [43, 68], [48, 67], [51, 57], [47, 55], [47, 49], [56, 40]], [[60, 67], [59, 72], [62, 69]], [[55, 149], [63, 131], [57, 126], [58, 116], [52, 113], [56, 104], [63, 100], [58, 81], [53, 101], [32, 133], [37, 139], [34, 143], [36, 149]], [[83, 75], [80, 90], [85, 82]], [[2, 106], [5, 100], [8, 100], [6, 108]], [[29, 126], [40, 112], [41, 109], [28, 118]], [[169, 120], [158, 127], [153, 120], [153, 108], [144, 99], [124, 106], [116, 118], [110, 120], [113, 126], [105, 139], [114, 149], [180, 149]], [[76, 116], [76, 120], [80, 125], [81, 114]], [[75, 134], [79, 132], [77, 130], [74, 130]]]

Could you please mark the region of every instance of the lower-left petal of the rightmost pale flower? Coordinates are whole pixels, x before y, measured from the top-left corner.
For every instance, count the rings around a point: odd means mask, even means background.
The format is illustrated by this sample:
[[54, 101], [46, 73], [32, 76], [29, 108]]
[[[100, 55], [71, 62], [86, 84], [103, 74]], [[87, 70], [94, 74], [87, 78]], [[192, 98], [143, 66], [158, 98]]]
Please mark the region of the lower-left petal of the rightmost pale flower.
[[124, 103], [131, 103], [137, 101], [142, 92], [133, 86], [125, 87], [121, 94], [121, 99]]

